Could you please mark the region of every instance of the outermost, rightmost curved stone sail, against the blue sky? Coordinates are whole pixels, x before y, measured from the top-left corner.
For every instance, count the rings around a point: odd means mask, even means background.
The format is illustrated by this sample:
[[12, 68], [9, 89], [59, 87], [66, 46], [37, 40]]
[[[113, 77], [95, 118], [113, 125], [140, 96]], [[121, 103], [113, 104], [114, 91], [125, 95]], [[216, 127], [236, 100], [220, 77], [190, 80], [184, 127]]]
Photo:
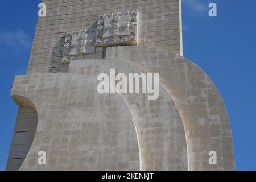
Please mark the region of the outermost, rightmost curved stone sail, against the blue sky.
[[[220, 93], [197, 65], [173, 52], [146, 46], [108, 47], [106, 59], [159, 73], [159, 82], [183, 119], [190, 170], [233, 170], [234, 154], [228, 114]], [[217, 165], [209, 165], [209, 151]]]

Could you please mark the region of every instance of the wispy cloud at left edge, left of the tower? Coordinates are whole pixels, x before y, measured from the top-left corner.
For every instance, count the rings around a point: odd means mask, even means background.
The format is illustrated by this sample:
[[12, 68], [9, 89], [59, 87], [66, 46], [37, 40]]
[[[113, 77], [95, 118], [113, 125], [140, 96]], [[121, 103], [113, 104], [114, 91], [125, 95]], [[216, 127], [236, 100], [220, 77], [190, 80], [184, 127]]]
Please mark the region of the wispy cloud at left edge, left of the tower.
[[10, 46], [11, 48], [30, 48], [31, 37], [23, 30], [0, 31], [0, 43], [2, 46]]

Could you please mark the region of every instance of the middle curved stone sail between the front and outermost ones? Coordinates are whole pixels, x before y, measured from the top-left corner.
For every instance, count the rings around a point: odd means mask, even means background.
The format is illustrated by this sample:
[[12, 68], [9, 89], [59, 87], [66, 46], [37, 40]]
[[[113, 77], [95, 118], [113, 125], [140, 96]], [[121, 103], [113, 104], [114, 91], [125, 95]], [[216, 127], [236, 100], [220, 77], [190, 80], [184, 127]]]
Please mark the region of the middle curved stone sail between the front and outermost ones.
[[[97, 78], [98, 73], [146, 73], [119, 60], [88, 59], [71, 61], [69, 73]], [[127, 85], [128, 88], [129, 85]], [[138, 131], [142, 170], [187, 170], [187, 144], [180, 113], [166, 90], [159, 85], [159, 98], [147, 94], [120, 94], [129, 107]]]

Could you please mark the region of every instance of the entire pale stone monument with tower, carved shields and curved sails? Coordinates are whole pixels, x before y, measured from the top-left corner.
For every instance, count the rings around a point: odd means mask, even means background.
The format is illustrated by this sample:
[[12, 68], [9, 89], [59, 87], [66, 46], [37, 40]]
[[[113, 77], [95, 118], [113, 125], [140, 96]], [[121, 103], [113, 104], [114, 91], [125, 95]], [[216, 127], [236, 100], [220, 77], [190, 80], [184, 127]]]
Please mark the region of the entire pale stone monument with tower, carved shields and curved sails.
[[[234, 169], [220, 93], [182, 57], [179, 0], [43, 3], [27, 74], [11, 90], [19, 111], [7, 170]], [[159, 73], [158, 99], [98, 93], [110, 69]]]

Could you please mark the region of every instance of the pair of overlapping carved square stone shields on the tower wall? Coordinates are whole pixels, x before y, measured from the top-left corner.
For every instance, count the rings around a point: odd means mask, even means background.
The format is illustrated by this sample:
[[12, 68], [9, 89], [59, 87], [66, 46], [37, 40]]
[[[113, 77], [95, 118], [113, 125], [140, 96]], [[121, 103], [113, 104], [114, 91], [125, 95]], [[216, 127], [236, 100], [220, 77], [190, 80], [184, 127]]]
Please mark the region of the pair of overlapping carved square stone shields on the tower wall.
[[62, 64], [102, 58], [103, 47], [137, 45], [138, 10], [98, 15], [97, 27], [65, 34]]

